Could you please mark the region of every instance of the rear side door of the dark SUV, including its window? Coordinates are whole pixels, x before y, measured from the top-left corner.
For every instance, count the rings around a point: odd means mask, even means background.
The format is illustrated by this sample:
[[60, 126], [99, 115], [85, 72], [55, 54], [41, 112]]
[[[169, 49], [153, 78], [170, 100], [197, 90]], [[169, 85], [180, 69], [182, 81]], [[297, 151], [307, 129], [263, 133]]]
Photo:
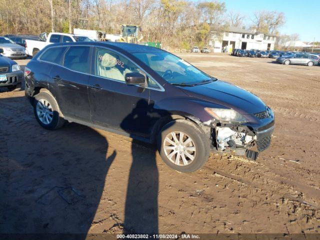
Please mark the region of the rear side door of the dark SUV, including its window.
[[88, 81], [90, 74], [90, 47], [70, 46], [63, 54], [61, 65], [50, 71], [52, 88], [63, 114], [90, 121]]

